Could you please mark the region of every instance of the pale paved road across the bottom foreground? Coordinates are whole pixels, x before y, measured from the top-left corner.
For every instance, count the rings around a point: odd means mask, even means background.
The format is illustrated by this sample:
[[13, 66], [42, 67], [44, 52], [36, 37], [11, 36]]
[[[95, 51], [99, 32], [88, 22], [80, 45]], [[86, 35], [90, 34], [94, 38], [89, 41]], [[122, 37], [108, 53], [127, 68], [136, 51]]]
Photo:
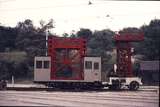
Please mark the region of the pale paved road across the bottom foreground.
[[159, 93], [143, 91], [0, 91], [0, 106], [159, 107]]

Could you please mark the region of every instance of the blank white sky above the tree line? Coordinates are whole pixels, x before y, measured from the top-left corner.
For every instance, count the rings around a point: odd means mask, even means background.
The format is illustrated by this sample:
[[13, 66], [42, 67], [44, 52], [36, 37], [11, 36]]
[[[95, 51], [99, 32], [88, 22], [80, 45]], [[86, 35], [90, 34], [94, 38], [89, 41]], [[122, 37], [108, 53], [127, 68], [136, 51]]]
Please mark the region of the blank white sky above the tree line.
[[[160, 19], [160, 1], [107, 1], [90, 0], [0, 0], [0, 23], [16, 26], [17, 22], [31, 19], [40, 26], [54, 19], [54, 33], [61, 35], [79, 28], [91, 30], [140, 27], [152, 19]], [[106, 17], [109, 15], [109, 17]]]

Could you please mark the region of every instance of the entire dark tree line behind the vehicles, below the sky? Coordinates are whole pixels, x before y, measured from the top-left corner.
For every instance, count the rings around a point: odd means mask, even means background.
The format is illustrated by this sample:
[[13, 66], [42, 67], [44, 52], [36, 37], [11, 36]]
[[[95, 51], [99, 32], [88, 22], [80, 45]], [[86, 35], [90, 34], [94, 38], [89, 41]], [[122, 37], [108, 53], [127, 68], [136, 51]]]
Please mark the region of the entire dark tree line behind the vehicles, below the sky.
[[[40, 25], [40, 27], [36, 28], [30, 19], [19, 22], [14, 28], [0, 25], [0, 53], [23, 51], [26, 53], [25, 57], [27, 58], [22, 61], [2, 60], [0, 58], [1, 77], [2, 75], [7, 75], [8, 77], [13, 74], [17, 77], [32, 75], [34, 56], [45, 55], [46, 32], [54, 28], [54, 21], [51, 19], [47, 23], [41, 20]], [[135, 54], [145, 56], [143, 60], [159, 60], [160, 20], [152, 20], [149, 25], [143, 25], [140, 28], [124, 28], [120, 33], [137, 33], [139, 31], [144, 32], [145, 40], [133, 43]], [[101, 56], [102, 69], [104, 71], [112, 68], [110, 65], [115, 63], [115, 54], [113, 53], [115, 48], [114, 34], [109, 29], [91, 31], [90, 29], [81, 28], [78, 32], [64, 33], [63, 36], [85, 38], [87, 40], [87, 55]]]

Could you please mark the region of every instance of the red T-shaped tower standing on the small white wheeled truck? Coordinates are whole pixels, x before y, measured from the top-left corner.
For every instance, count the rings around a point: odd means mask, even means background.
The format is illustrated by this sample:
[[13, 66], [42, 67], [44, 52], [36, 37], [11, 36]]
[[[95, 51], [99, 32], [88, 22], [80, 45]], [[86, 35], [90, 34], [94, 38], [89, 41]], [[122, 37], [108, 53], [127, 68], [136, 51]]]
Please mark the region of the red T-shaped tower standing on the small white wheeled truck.
[[117, 75], [119, 77], [133, 77], [130, 42], [143, 41], [143, 33], [116, 34], [114, 40], [116, 41], [117, 48]]

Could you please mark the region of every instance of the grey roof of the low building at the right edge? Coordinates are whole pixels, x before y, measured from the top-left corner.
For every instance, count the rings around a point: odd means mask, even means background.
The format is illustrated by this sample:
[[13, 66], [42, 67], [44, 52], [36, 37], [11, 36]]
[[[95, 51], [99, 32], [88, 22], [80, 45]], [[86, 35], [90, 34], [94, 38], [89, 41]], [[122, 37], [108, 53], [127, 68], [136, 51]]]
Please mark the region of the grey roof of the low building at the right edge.
[[142, 71], [159, 71], [159, 61], [141, 61], [140, 69]]

